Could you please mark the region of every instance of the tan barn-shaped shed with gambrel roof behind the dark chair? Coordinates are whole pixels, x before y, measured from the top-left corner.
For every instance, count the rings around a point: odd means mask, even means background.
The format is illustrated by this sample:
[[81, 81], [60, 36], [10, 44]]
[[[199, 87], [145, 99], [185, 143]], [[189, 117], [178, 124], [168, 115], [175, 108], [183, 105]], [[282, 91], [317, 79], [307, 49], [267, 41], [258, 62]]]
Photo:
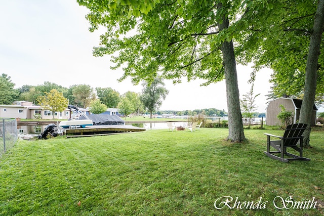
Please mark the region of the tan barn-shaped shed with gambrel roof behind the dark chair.
[[[277, 118], [277, 115], [281, 112], [280, 105], [284, 106], [286, 110], [293, 111], [294, 118], [293, 123], [296, 123], [299, 119], [300, 115], [300, 109], [302, 107], [302, 101], [299, 99], [292, 99], [292, 98], [277, 98], [269, 102], [266, 110], [266, 124], [267, 125], [277, 125], [280, 124], [279, 119]], [[316, 111], [317, 108], [314, 104], [313, 106], [313, 113], [312, 113], [312, 119], [311, 119], [311, 125], [315, 125], [316, 120]]]

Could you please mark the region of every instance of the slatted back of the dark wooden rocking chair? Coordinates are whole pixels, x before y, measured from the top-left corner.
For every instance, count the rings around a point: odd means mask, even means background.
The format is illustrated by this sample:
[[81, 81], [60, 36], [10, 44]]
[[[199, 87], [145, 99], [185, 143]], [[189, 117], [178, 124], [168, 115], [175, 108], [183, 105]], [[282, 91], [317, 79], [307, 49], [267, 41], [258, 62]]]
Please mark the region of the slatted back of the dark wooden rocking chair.
[[289, 139], [285, 139], [284, 145], [285, 146], [296, 145], [300, 137], [303, 135], [306, 127], [307, 124], [304, 123], [288, 125], [284, 134], [284, 138], [289, 138]]

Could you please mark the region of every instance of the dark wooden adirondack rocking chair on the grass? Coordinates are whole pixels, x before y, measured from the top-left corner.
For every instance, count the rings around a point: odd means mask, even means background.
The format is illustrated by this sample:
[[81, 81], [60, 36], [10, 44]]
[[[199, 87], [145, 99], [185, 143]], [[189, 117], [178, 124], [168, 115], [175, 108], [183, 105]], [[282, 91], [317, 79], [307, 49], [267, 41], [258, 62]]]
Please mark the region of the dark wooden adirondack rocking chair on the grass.
[[[284, 136], [275, 136], [271, 134], [267, 135], [267, 151], [264, 153], [269, 157], [280, 160], [282, 162], [288, 162], [289, 160], [310, 160], [309, 158], [303, 157], [303, 136], [306, 129], [307, 124], [298, 123], [298, 124], [291, 124], [288, 125], [285, 131]], [[279, 138], [280, 140], [273, 140], [271, 141], [271, 137]], [[300, 143], [298, 147], [297, 144]], [[276, 151], [270, 151], [270, 146], [275, 148]], [[293, 148], [297, 152], [299, 152], [299, 156], [287, 152], [287, 148]], [[274, 155], [279, 154], [279, 156]], [[284, 158], [286, 156], [286, 158]], [[289, 156], [287, 158], [287, 156]]]

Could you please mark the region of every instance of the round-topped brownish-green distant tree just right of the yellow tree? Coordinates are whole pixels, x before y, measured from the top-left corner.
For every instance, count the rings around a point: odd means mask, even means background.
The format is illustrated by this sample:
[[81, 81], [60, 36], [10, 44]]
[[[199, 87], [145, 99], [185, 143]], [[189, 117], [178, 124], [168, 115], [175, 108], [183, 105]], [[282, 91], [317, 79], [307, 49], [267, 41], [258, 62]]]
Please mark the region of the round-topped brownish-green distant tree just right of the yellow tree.
[[79, 84], [72, 91], [76, 103], [80, 103], [83, 108], [89, 106], [92, 99], [96, 99], [93, 88], [87, 84]]

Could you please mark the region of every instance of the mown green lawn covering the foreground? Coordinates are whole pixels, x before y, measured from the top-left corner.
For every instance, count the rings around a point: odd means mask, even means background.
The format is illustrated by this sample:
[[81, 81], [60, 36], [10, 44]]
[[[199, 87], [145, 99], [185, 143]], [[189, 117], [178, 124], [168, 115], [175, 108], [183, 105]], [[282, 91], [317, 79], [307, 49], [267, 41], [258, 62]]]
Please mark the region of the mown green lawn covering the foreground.
[[[263, 134], [282, 131], [245, 130], [249, 142], [242, 144], [225, 142], [227, 133], [161, 129], [19, 141], [0, 158], [0, 215], [323, 213], [323, 131], [313, 131], [313, 147], [304, 150], [311, 161], [289, 163], [263, 153]], [[267, 203], [264, 209], [216, 209], [214, 202], [222, 196], [241, 202], [262, 197]], [[273, 200], [279, 196], [294, 201], [315, 197], [318, 208], [276, 209]]]

